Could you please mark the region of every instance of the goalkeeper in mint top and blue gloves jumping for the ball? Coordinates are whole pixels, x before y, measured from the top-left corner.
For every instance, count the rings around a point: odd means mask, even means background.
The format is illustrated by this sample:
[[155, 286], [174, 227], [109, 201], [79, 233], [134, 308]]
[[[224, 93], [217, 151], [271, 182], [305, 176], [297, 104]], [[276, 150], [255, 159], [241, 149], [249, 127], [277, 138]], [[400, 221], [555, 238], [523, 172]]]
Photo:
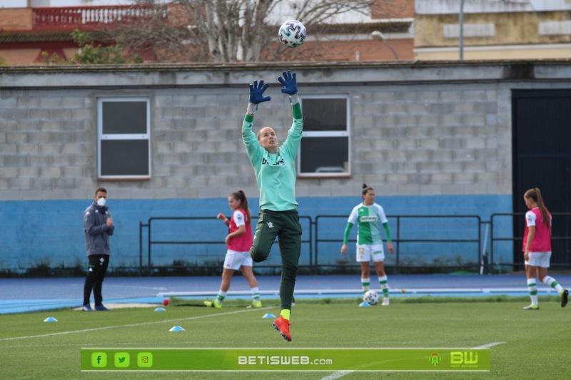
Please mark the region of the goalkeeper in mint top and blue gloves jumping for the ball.
[[264, 127], [257, 135], [252, 131], [258, 104], [271, 100], [270, 96], [263, 96], [269, 86], [264, 84], [264, 81], [253, 81], [250, 85], [250, 102], [242, 124], [242, 138], [260, 190], [259, 219], [250, 255], [254, 262], [263, 262], [268, 258], [276, 236], [278, 237], [282, 260], [281, 312], [280, 317], [273, 322], [273, 327], [283, 339], [290, 342], [291, 302], [301, 252], [301, 225], [297, 211], [298, 202], [295, 201], [295, 156], [301, 142], [303, 116], [295, 73], [284, 71], [278, 81], [283, 86], [281, 92], [289, 95], [293, 112], [288, 138], [278, 146], [278, 138], [272, 128]]

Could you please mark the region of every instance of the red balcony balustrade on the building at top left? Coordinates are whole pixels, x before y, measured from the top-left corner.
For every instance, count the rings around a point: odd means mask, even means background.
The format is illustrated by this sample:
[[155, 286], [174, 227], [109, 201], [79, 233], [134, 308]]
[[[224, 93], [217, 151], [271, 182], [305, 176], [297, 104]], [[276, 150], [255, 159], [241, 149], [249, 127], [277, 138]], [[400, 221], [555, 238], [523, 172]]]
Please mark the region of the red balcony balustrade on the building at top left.
[[119, 23], [166, 20], [166, 9], [145, 6], [69, 6], [34, 8], [34, 31], [94, 30]]

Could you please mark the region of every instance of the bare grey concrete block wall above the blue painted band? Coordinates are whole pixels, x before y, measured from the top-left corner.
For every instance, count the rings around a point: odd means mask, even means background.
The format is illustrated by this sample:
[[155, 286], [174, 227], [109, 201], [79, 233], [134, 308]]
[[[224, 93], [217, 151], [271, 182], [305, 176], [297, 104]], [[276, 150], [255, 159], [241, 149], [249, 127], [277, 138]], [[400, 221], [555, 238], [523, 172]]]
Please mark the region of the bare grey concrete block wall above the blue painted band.
[[[403, 75], [404, 68], [335, 70], [338, 73], [325, 86], [319, 75], [299, 68], [298, 82], [302, 97], [350, 98], [352, 175], [300, 178], [300, 196], [358, 195], [363, 182], [382, 186], [385, 195], [510, 192], [511, 100], [498, 95], [510, 83], [496, 83], [493, 78], [483, 83], [433, 83], [433, 76], [443, 75], [429, 69], [414, 81], [404, 76], [402, 81], [383, 80]], [[266, 78], [277, 77], [276, 72], [268, 71]], [[85, 199], [101, 184], [120, 199], [225, 197], [237, 188], [257, 195], [241, 142], [241, 122], [248, 103], [247, 83], [264, 73], [257, 76], [245, 70], [241, 86], [181, 86], [161, 83], [161, 78], [171, 76], [145, 68], [112, 90], [103, 86], [115, 82], [113, 76], [118, 74], [61, 71], [48, 78], [36, 73], [46, 87], [34, 88], [16, 82], [18, 74], [10, 77], [15, 87], [0, 93], [2, 199]], [[360, 76], [367, 85], [348, 82], [345, 76]], [[67, 88], [51, 88], [58, 82], [67, 83]], [[148, 86], [141, 88], [142, 84]], [[277, 81], [267, 93], [273, 99], [260, 106], [254, 127], [271, 125], [283, 141], [291, 123], [287, 96], [280, 93]], [[150, 180], [96, 178], [96, 104], [99, 97], [110, 96], [150, 99]]]

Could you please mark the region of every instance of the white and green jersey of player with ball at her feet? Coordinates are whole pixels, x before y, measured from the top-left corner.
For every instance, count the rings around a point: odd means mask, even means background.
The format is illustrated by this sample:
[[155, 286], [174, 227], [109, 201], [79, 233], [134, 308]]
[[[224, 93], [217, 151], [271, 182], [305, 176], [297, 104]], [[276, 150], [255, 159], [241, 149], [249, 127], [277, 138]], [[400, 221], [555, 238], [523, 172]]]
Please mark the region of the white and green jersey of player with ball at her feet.
[[[353, 207], [349, 215], [348, 223], [358, 226], [357, 244], [383, 244], [380, 235], [381, 226], [388, 222], [385, 210], [380, 205], [365, 206], [363, 202]], [[389, 240], [390, 241], [390, 240]]]

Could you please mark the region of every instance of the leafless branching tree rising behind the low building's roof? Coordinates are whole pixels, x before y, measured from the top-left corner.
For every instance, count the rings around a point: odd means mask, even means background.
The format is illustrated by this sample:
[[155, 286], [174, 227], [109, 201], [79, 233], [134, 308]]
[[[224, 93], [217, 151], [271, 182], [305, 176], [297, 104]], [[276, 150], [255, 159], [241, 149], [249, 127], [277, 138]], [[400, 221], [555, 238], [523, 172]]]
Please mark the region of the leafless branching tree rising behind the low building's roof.
[[[134, 0], [133, 12], [108, 36], [159, 62], [255, 62], [284, 49], [277, 34], [281, 11], [325, 34], [349, 12], [370, 14], [370, 0]], [[377, 1], [378, 3], [378, 1]], [[351, 26], [355, 29], [355, 26]], [[353, 30], [351, 30], [353, 32]], [[290, 49], [291, 50], [291, 49]]]

